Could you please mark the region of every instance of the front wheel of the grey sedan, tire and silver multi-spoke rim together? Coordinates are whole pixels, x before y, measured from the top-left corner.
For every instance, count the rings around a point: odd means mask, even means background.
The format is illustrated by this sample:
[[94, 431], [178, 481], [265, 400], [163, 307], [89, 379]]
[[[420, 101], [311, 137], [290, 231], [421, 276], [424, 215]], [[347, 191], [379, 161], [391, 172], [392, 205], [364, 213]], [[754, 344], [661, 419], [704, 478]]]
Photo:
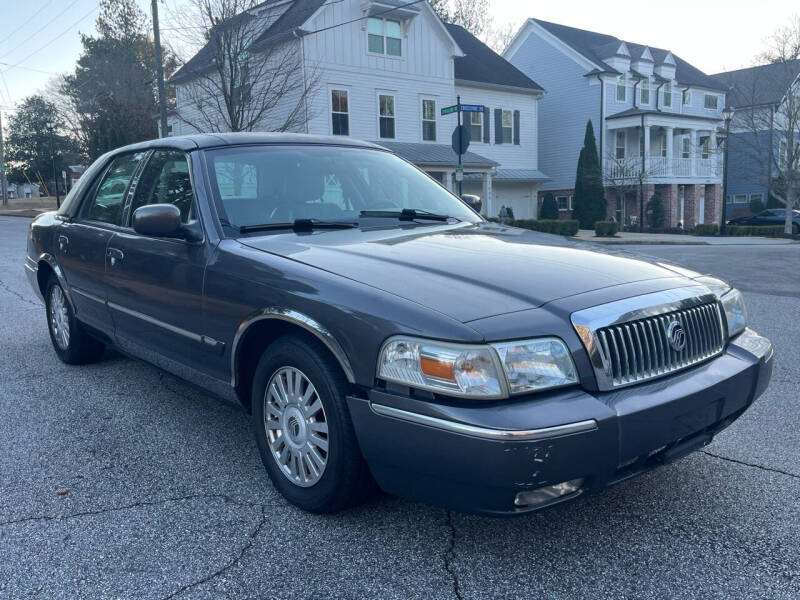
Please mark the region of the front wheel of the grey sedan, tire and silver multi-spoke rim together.
[[272, 483], [295, 506], [333, 513], [372, 488], [339, 365], [313, 340], [279, 339], [253, 381], [253, 428]]

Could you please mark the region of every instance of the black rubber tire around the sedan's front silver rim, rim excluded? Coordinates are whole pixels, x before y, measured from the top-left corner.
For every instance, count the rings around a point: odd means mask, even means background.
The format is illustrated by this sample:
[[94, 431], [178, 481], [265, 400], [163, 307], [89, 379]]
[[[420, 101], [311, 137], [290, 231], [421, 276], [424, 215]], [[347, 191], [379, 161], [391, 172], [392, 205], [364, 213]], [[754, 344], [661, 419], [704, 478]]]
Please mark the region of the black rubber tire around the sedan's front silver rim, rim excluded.
[[[284, 473], [270, 448], [265, 426], [267, 386], [273, 376], [286, 367], [300, 371], [316, 388], [328, 428], [327, 462], [319, 480], [308, 487], [301, 487]], [[261, 459], [278, 491], [289, 502], [304, 510], [335, 513], [360, 504], [374, 489], [347, 408], [347, 389], [344, 374], [324, 346], [301, 336], [289, 335], [276, 340], [264, 352], [256, 367], [252, 418]]]

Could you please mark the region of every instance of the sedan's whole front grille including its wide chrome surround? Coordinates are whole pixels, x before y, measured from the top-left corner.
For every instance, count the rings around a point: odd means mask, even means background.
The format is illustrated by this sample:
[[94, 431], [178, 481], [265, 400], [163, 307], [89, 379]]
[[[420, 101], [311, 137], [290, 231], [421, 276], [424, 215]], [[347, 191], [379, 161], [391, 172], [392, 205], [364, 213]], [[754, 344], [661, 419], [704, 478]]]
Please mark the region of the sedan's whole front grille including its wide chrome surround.
[[[570, 315], [601, 390], [663, 377], [718, 356], [728, 339], [717, 297], [696, 285], [626, 298]], [[667, 331], [676, 321], [686, 345], [676, 352]], [[674, 327], [673, 327], [674, 328]]]

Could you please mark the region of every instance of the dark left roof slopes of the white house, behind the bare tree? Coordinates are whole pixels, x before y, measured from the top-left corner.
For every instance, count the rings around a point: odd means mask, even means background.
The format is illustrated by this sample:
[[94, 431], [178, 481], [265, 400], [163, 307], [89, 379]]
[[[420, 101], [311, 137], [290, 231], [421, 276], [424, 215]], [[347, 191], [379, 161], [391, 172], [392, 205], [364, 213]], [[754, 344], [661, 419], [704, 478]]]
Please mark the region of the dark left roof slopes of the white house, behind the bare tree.
[[[270, 4], [278, 4], [282, 1], [283, 0], [266, 0], [246, 12], [231, 17], [227, 21], [217, 25], [217, 27], [244, 25], [257, 18], [255, 13], [258, 9], [265, 8]], [[253, 41], [253, 48], [255, 49], [259, 46], [266, 46], [271, 43], [290, 39], [295, 35], [295, 32], [297, 32], [300, 26], [325, 4], [325, 1], [326, 0], [294, 0], [275, 22], [256, 37]], [[205, 46], [200, 48], [197, 54], [189, 59], [185, 65], [169, 78], [169, 83], [180, 83], [192, 79], [196, 75], [212, 68], [214, 66], [214, 57], [216, 54], [217, 42], [216, 39], [212, 38]]]

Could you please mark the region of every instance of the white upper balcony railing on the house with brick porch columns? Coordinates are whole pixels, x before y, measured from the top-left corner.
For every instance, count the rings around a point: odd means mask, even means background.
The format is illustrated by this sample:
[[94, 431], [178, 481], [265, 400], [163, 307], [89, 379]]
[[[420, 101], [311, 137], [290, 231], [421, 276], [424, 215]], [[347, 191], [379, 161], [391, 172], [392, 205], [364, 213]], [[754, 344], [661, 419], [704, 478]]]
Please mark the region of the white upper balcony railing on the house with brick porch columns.
[[[606, 159], [604, 171], [604, 178], [610, 181], [638, 179], [642, 172], [642, 157], [629, 156], [620, 159]], [[721, 161], [714, 158], [645, 157], [644, 181], [655, 179], [707, 179], [721, 176]]]

